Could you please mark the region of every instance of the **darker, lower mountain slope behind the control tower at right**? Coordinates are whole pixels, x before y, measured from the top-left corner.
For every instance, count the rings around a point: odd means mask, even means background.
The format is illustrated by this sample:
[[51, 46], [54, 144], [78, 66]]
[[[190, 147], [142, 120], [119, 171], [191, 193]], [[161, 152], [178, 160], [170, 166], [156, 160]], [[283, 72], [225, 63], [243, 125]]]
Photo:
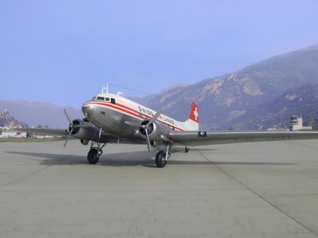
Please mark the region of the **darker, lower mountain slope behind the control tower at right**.
[[304, 125], [317, 127], [318, 84], [306, 84], [287, 90], [270, 103], [262, 104], [231, 120], [227, 126], [234, 129], [255, 130], [291, 126], [291, 116], [302, 116]]

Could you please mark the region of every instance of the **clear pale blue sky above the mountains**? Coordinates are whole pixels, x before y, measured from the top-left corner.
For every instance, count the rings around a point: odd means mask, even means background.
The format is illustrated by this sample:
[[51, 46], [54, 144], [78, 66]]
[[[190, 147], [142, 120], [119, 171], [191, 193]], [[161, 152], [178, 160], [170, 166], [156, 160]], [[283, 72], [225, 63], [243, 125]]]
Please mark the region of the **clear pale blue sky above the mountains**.
[[317, 12], [318, 0], [1, 0], [0, 100], [79, 108], [107, 82], [196, 83], [318, 44]]

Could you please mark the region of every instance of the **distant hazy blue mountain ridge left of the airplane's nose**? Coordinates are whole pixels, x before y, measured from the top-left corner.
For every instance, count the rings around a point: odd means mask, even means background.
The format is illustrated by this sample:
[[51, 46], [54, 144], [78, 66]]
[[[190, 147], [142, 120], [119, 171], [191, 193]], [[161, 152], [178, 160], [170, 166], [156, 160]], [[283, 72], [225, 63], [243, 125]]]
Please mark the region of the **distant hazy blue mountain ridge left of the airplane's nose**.
[[73, 119], [84, 117], [80, 109], [46, 102], [0, 100], [0, 108], [7, 108], [17, 120], [24, 121], [29, 126], [47, 125], [52, 128], [67, 128], [70, 122], [64, 114], [64, 108], [70, 112]]

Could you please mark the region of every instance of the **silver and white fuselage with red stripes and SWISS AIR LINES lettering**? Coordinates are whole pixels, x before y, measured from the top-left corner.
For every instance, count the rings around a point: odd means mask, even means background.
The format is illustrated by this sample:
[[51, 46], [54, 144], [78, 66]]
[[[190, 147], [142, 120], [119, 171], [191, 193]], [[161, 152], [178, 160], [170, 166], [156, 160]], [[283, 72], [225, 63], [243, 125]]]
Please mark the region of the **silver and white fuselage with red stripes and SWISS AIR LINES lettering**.
[[[101, 128], [104, 135], [107, 134], [108, 141], [121, 140], [124, 143], [145, 143], [138, 128], [125, 121], [141, 124], [157, 113], [127, 98], [109, 93], [97, 94], [92, 100], [85, 102], [81, 109], [91, 123]], [[182, 122], [165, 115], [160, 115], [158, 121], [161, 122], [161, 126], [169, 128], [171, 131], [187, 129]]]

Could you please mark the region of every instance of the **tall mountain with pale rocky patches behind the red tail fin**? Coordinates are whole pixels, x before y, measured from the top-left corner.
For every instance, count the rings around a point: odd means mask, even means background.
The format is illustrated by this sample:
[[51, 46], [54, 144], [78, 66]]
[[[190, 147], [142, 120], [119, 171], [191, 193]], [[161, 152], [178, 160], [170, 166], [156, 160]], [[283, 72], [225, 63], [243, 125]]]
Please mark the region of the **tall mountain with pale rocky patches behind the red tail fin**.
[[148, 106], [184, 120], [192, 102], [200, 108], [201, 129], [227, 129], [229, 122], [269, 103], [286, 90], [318, 83], [318, 45], [272, 57], [237, 72], [167, 91]]

